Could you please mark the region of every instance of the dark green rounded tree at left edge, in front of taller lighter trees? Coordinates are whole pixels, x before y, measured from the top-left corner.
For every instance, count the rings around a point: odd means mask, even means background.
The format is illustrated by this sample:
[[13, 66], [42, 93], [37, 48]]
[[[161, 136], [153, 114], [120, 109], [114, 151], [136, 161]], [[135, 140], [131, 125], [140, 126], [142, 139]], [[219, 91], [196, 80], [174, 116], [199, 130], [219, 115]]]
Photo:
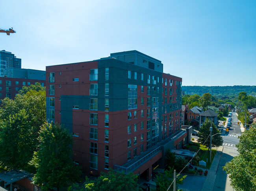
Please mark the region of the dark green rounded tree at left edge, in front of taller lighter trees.
[[1, 121], [0, 125], [0, 164], [7, 169], [30, 169], [28, 162], [36, 146], [33, 129], [28, 123], [24, 109]]

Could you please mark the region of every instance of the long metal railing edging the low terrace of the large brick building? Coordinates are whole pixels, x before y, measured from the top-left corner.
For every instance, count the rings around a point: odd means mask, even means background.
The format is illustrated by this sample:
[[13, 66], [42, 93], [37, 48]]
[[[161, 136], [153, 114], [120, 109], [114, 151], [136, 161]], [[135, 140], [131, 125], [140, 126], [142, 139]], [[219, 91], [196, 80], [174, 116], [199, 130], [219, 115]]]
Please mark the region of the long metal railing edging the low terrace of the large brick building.
[[124, 171], [124, 173], [132, 172], [138, 167], [140, 167], [141, 165], [145, 164], [148, 160], [150, 160], [150, 158], [158, 154], [160, 151], [161, 151], [161, 146], [157, 147], [156, 149], [148, 153], [143, 158], [137, 160], [136, 162], [134, 162], [134, 164], [130, 165], [129, 167], [114, 165], [114, 170], [120, 171], [120, 172]]

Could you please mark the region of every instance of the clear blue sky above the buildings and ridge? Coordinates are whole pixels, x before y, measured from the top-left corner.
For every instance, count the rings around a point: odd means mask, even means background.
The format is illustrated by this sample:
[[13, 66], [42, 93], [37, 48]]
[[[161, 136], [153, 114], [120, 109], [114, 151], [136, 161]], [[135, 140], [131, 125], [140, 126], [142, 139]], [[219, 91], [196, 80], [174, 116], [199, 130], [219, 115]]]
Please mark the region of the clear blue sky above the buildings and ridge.
[[137, 50], [183, 85], [256, 85], [256, 1], [0, 0], [0, 50], [22, 68]]

